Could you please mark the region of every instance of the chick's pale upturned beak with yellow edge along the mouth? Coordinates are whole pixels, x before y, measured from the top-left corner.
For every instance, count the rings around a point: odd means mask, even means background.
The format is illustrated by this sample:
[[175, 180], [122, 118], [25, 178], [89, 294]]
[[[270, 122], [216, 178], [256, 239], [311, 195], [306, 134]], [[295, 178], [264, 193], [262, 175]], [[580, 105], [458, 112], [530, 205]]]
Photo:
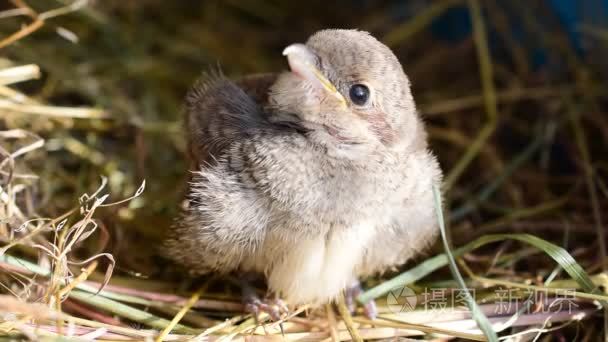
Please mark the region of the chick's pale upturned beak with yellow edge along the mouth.
[[317, 56], [304, 44], [291, 44], [283, 50], [291, 71], [336, 97], [344, 106], [346, 100], [336, 87], [316, 67]]

